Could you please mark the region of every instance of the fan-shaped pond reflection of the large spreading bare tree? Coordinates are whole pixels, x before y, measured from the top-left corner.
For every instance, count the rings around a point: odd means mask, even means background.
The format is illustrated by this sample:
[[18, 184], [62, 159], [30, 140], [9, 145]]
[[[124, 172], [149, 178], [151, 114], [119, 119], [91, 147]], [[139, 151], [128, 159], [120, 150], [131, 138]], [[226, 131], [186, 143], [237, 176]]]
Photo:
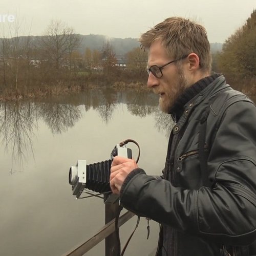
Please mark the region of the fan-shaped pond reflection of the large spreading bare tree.
[[61, 134], [74, 126], [81, 118], [81, 112], [75, 105], [44, 103], [41, 106], [41, 116], [53, 134]]

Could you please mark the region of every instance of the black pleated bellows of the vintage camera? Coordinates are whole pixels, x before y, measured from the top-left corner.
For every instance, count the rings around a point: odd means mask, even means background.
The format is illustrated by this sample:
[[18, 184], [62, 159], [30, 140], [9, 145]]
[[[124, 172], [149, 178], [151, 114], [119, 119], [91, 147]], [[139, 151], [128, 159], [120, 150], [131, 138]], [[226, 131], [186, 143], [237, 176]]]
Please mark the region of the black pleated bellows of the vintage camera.
[[111, 163], [112, 159], [87, 165], [86, 188], [99, 193], [110, 191]]

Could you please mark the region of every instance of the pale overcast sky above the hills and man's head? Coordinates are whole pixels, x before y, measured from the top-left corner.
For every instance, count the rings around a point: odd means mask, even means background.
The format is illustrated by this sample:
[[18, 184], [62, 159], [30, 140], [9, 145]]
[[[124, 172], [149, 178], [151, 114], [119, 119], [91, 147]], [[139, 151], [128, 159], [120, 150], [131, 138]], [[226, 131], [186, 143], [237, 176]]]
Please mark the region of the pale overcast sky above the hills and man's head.
[[256, 9], [256, 0], [0, 1], [0, 37], [10, 24], [3, 22], [5, 14], [14, 15], [15, 20], [19, 16], [23, 34], [42, 35], [51, 19], [60, 19], [79, 34], [121, 38], [138, 38], [167, 17], [183, 16], [205, 26], [210, 42], [224, 42]]

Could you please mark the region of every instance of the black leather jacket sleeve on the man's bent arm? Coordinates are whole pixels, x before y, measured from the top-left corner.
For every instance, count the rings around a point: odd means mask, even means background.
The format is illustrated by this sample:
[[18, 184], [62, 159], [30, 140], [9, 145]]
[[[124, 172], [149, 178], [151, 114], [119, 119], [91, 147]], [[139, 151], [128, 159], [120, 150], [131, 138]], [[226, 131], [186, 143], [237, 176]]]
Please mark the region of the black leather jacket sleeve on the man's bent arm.
[[224, 112], [207, 172], [213, 185], [195, 190], [137, 172], [121, 203], [137, 215], [230, 245], [256, 239], [256, 109], [237, 102]]

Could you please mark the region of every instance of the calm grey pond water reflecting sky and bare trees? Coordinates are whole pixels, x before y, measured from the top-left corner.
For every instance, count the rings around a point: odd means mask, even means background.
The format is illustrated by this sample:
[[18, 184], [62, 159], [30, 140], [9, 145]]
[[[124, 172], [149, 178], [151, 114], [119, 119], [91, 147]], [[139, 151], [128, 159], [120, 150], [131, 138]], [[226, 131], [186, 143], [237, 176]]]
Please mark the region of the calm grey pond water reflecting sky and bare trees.
[[[61, 255], [91, 238], [104, 225], [103, 200], [75, 200], [70, 165], [107, 160], [118, 142], [131, 138], [141, 147], [139, 166], [161, 174], [172, 125], [153, 94], [109, 89], [1, 103], [0, 117], [0, 255], [8, 256]], [[136, 221], [120, 228], [121, 247]], [[125, 254], [151, 255], [158, 224], [151, 221], [150, 239], [146, 234], [142, 219]], [[104, 242], [87, 255], [104, 255]]]

